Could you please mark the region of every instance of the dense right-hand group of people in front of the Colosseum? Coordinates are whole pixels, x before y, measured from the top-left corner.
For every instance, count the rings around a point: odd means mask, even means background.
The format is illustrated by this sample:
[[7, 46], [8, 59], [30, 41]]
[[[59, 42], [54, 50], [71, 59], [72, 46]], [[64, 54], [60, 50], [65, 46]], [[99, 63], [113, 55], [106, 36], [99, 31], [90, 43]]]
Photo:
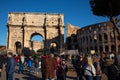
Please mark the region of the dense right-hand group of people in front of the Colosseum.
[[108, 59], [106, 53], [72, 56], [72, 63], [77, 80], [102, 80], [103, 75], [106, 75], [108, 80], [120, 78], [120, 63], [116, 56], [112, 60]]

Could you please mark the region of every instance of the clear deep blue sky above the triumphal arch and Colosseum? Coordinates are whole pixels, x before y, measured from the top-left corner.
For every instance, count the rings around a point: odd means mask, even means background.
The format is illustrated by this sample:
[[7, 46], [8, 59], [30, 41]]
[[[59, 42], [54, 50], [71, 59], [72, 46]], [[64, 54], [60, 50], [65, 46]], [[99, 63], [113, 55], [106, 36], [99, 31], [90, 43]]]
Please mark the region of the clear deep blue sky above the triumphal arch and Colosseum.
[[63, 13], [64, 23], [84, 27], [108, 18], [92, 14], [89, 0], [0, 0], [0, 45], [6, 45], [9, 12]]

